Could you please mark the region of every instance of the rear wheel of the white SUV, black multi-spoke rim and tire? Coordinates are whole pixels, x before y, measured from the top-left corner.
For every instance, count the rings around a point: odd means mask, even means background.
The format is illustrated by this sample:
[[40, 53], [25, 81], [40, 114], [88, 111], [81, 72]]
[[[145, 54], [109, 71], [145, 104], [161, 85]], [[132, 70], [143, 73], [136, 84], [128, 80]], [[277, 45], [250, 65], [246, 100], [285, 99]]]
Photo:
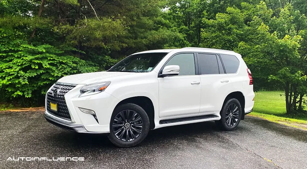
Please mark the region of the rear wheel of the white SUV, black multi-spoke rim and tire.
[[216, 121], [217, 126], [221, 130], [232, 131], [235, 130], [242, 117], [242, 107], [239, 100], [230, 98], [223, 105], [220, 112], [221, 119]]

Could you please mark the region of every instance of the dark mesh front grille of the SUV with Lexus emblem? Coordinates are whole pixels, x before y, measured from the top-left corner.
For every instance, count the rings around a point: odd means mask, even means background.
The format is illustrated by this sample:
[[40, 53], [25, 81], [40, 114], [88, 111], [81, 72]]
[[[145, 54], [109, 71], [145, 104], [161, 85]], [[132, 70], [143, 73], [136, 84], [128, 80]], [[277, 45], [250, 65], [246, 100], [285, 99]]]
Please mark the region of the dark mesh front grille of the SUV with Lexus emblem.
[[[56, 82], [47, 93], [47, 111], [60, 118], [71, 120], [64, 95], [74, 87], [76, 85]], [[51, 110], [50, 102], [57, 104], [57, 111]]]

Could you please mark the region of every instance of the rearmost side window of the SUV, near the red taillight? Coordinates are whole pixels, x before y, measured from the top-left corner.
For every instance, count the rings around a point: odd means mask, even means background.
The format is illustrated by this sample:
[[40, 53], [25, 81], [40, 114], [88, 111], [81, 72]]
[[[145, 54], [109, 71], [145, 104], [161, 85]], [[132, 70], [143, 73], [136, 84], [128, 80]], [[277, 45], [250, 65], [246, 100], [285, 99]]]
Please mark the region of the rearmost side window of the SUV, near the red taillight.
[[239, 68], [239, 60], [234, 55], [220, 54], [226, 73], [236, 73]]

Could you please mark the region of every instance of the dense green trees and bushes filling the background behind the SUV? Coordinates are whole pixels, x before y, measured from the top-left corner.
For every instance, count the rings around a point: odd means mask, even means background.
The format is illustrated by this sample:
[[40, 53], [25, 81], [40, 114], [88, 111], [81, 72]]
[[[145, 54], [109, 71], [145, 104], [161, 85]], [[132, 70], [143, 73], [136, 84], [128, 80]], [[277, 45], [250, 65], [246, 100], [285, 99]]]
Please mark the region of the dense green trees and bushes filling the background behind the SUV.
[[44, 2], [0, 1], [0, 92], [6, 100], [34, 102], [60, 77], [106, 70], [138, 51], [191, 46], [240, 53], [256, 91], [284, 89], [287, 110], [304, 106], [305, 0]]

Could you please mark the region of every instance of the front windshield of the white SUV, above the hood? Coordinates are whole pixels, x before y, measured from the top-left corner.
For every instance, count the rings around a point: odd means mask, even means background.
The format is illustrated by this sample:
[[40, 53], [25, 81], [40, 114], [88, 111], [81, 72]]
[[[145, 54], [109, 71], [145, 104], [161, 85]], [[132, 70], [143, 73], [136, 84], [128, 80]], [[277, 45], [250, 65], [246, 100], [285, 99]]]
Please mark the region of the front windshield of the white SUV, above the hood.
[[167, 53], [130, 55], [114, 65], [109, 72], [150, 72]]

